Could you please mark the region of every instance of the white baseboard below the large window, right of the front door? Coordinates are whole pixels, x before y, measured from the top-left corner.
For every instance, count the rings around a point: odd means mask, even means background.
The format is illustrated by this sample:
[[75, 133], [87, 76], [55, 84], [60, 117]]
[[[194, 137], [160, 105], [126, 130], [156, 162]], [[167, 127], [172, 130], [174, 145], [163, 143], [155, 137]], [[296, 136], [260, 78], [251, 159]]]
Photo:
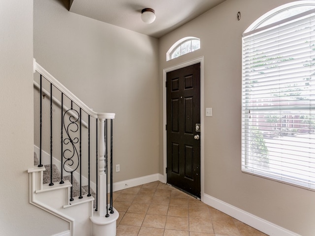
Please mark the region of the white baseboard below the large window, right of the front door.
[[261, 219], [249, 212], [229, 205], [217, 198], [211, 197], [207, 194], [203, 196], [203, 202], [210, 207], [214, 207], [225, 214], [232, 216], [233, 218], [242, 221], [243, 223], [252, 226], [253, 228], [270, 236], [300, 236], [296, 233], [288, 231], [278, 225], [275, 225], [269, 221]]

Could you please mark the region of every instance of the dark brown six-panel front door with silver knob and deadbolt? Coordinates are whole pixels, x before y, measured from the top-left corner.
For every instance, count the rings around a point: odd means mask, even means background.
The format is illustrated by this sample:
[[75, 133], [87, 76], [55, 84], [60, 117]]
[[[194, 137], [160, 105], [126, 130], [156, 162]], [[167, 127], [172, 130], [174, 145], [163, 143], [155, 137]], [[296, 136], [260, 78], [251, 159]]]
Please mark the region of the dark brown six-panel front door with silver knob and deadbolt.
[[200, 198], [200, 63], [168, 72], [166, 87], [167, 183]]

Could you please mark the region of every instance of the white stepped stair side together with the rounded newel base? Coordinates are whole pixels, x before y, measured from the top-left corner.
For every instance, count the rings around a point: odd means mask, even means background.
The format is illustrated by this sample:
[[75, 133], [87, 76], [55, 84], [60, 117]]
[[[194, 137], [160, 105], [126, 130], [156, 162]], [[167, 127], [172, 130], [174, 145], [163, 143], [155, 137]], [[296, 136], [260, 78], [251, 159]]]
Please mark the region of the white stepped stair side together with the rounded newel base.
[[68, 180], [63, 184], [43, 184], [45, 167], [29, 169], [30, 204], [43, 209], [69, 223], [69, 236], [116, 236], [116, 221], [118, 211], [110, 217], [99, 216], [93, 210], [94, 197], [83, 195], [82, 199], [73, 197], [70, 202], [70, 187]]

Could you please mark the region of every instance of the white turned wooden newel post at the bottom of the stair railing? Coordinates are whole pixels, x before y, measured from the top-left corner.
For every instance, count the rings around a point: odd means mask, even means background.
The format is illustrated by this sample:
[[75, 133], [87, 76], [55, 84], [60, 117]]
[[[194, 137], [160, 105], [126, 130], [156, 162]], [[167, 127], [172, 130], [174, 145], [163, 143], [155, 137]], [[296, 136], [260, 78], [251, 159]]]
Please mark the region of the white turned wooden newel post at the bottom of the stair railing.
[[105, 119], [99, 119], [99, 158], [98, 158], [98, 203], [97, 210], [99, 211], [99, 216], [106, 215], [106, 174], [105, 174]]

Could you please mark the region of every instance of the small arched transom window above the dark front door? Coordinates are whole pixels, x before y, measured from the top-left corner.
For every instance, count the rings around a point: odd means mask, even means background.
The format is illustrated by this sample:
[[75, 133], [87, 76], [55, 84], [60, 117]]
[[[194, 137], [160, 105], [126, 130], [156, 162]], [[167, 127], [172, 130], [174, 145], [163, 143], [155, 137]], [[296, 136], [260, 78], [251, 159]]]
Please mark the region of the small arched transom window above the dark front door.
[[184, 54], [200, 49], [200, 39], [185, 37], [178, 40], [166, 53], [166, 60], [178, 58]]

